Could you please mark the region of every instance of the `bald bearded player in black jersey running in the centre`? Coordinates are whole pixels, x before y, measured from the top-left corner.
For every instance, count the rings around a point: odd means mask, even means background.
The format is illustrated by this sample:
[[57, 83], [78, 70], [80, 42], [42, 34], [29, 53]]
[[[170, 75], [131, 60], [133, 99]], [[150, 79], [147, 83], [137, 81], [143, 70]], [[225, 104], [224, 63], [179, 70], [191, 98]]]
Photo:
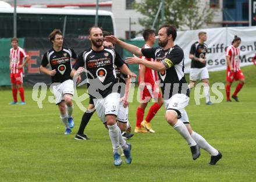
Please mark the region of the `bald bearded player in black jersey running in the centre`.
[[127, 125], [125, 122], [119, 122], [118, 127], [116, 123], [116, 117], [119, 113], [120, 94], [114, 66], [119, 67], [120, 71], [128, 77], [136, 77], [136, 75], [130, 72], [115, 49], [105, 48], [102, 45], [103, 34], [101, 28], [97, 26], [91, 27], [88, 35], [91, 41], [91, 48], [80, 53], [71, 75], [77, 77], [86, 70], [88, 94], [94, 97], [93, 102], [98, 116], [108, 126], [109, 137], [113, 147], [114, 165], [122, 165], [122, 159], [119, 154], [120, 147], [123, 148], [126, 163], [130, 164], [131, 145], [126, 143], [121, 133], [121, 130], [127, 129]]

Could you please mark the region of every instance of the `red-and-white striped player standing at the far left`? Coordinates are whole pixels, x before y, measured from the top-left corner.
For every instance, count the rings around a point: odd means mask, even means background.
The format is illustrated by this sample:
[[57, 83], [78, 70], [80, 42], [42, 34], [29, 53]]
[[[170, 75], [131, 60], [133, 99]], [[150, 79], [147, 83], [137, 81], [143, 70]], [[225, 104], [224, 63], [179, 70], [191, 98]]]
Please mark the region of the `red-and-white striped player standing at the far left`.
[[[11, 40], [12, 48], [10, 49], [10, 83], [12, 83], [12, 96], [13, 102], [10, 104], [17, 104], [17, 90], [19, 89], [21, 102], [20, 105], [24, 105], [24, 88], [23, 88], [23, 66], [29, 62], [29, 55], [23, 48], [18, 46], [18, 40], [13, 37]], [[24, 60], [25, 59], [25, 60]], [[23, 62], [24, 60], [24, 62]]]

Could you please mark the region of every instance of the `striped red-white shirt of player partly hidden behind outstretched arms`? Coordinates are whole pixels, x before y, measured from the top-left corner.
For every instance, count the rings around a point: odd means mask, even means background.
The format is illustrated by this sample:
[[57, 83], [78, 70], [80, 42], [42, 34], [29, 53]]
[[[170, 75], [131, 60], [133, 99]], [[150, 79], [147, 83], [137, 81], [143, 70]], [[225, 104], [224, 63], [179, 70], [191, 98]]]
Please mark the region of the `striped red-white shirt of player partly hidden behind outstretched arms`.
[[[143, 46], [143, 48], [151, 48], [151, 47], [149, 47], [147, 44], [145, 44]], [[152, 61], [152, 62], [156, 61], [152, 58], [145, 58], [145, 56], [140, 56], [140, 58], [146, 59], [146, 60]], [[138, 66], [138, 69], [140, 69], [140, 65]], [[140, 76], [138, 77], [138, 83], [140, 83]], [[144, 83], [158, 84], [157, 71], [152, 70], [148, 67], [145, 67]]]

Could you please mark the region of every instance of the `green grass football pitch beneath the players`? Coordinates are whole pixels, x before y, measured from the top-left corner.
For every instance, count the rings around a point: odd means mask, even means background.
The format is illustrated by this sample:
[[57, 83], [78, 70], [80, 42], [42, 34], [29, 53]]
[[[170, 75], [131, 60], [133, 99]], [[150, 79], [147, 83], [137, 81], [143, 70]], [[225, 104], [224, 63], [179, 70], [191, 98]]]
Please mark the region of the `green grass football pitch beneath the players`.
[[[135, 134], [129, 140], [131, 165], [123, 159], [122, 166], [114, 167], [108, 131], [97, 114], [85, 131], [91, 140], [77, 141], [83, 112], [76, 104], [76, 126], [71, 135], [64, 135], [55, 104], [45, 99], [39, 109], [31, 88], [26, 88], [26, 105], [8, 105], [11, 91], [1, 90], [0, 181], [256, 181], [256, 67], [244, 67], [243, 72], [247, 84], [238, 95], [241, 102], [207, 106], [203, 98], [195, 105], [192, 92], [186, 108], [193, 130], [222, 152], [215, 166], [208, 166], [210, 155], [204, 150], [199, 159], [192, 159], [186, 141], [165, 121], [164, 108], [152, 120], [156, 133]], [[223, 82], [225, 72], [210, 76], [211, 83]], [[49, 90], [47, 95], [52, 95]], [[134, 97], [129, 107], [133, 129], [137, 106]]]

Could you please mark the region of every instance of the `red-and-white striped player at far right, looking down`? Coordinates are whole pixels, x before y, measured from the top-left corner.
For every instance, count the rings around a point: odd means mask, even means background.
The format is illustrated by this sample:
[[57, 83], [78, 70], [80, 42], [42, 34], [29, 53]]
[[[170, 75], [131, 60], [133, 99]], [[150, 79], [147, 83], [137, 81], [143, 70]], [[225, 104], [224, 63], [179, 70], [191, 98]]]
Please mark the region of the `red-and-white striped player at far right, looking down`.
[[236, 90], [232, 95], [232, 98], [239, 102], [237, 98], [237, 93], [241, 90], [244, 85], [244, 74], [242, 73], [239, 65], [239, 56], [240, 49], [239, 45], [241, 44], [241, 38], [234, 36], [234, 40], [232, 41], [232, 45], [227, 47], [226, 49], [226, 58], [227, 58], [227, 75], [226, 75], [226, 96], [227, 102], [231, 102], [230, 100], [230, 86], [234, 80], [239, 80], [239, 84], [237, 84]]

